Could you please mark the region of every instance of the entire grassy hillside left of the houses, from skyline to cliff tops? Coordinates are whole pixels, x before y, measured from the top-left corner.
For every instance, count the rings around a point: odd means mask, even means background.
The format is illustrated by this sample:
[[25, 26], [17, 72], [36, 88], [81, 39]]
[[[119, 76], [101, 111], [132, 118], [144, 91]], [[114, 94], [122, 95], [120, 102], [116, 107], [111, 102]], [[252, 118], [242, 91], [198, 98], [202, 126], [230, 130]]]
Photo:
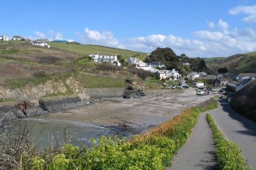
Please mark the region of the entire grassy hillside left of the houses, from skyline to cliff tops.
[[[54, 44], [62, 47], [67, 45]], [[70, 95], [76, 93], [74, 92], [74, 90], [77, 91], [76, 86], [79, 86], [79, 90], [124, 87], [127, 78], [141, 81], [141, 79], [145, 79], [142, 77], [149, 76], [148, 72], [145, 73], [142, 70], [92, 62], [83, 54], [83, 50], [90, 49], [89, 46], [74, 45], [74, 47], [77, 47], [77, 52], [35, 46], [28, 42], [0, 42], [0, 86], [7, 89], [24, 89], [51, 83], [47, 87], [53, 87], [54, 91], [51, 92], [54, 93], [53, 95]], [[101, 49], [101, 52], [123, 52], [123, 55], [143, 54], [97, 45], [92, 45], [92, 47], [95, 47], [92, 50]], [[63, 90], [66, 89], [65, 93], [61, 92], [63, 91], [61, 87]], [[57, 89], [60, 89], [60, 93]], [[51, 96], [52, 94], [47, 95]]]

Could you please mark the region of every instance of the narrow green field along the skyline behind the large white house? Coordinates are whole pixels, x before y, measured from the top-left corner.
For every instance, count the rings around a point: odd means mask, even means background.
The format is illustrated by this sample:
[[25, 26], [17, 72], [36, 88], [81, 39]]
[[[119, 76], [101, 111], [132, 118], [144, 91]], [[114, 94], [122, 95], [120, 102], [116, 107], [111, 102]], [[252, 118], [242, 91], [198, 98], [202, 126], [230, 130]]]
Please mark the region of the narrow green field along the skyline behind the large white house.
[[104, 47], [100, 45], [82, 45], [82, 44], [75, 44], [71, 43], [50, 43], [51, 47], [56, 47], [64, 50], [70, 50], [72, 52], [77, 52], [79, 54], [96, 54], [97, 52], [101, 54], [109, 54], [109, 55], [121, 55], [124, 56], [125, 59], [136, 56], [140, 59], [145, 59], [147, 56], [147, 53], [145, 52], [135, 52], [132, 50], [125, 50], [125, 49], [116, 49], [112, 47]]

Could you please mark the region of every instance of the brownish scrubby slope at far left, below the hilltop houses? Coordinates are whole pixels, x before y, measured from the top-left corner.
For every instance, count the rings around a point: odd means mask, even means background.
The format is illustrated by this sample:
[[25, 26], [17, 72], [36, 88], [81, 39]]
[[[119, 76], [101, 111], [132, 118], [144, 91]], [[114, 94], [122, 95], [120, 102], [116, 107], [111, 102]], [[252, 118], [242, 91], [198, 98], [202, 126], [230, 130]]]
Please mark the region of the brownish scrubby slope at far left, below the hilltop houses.
[[82, 55], [26, 42], [0, 43], [0, 86], [13, 79], [34, 79], [72, 71], [72, 61]]

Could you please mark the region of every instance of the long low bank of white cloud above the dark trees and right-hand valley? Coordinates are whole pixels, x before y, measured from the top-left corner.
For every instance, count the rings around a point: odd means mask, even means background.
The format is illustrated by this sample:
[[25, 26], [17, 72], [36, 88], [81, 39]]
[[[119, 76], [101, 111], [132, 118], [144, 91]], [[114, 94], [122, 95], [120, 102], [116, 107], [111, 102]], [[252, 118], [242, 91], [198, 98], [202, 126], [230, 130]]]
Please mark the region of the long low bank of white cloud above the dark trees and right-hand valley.
[[[223, 21], [222, 21], [223, 22]], [[131, 50], [152, 52], [157, 47], [170, 47], [176, 54], [189, 57], [231, 56], [256, 50], [256, 31], [253, 29], [196, 31], [195, 38], [174, 35], [148, 35], [127, 39]]]

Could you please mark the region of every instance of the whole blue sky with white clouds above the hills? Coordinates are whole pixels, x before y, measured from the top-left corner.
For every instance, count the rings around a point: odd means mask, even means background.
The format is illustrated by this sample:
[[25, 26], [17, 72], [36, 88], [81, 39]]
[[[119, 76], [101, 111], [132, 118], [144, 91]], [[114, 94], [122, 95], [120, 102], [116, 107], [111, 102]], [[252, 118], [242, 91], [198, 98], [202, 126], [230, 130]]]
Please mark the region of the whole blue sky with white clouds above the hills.
[[0, 35], [189, 57], [256, 51], [256, 0], [1, 0]]

